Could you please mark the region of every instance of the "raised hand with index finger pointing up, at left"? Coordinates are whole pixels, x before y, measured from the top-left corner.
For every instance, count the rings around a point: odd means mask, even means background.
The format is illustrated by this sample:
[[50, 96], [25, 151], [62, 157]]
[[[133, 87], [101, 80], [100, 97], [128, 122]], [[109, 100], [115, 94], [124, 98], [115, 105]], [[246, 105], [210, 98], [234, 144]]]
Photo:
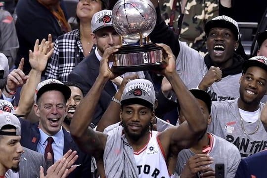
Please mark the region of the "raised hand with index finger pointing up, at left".
[[23, 86], [29, 76], [25, 75], [22, 71], [24, 65], [24, 58], [21, 58], [19, 66], [17, 69], [12, 70], [7, 76], [6, 89], [8, 93], [15, 93], [17, 88]]

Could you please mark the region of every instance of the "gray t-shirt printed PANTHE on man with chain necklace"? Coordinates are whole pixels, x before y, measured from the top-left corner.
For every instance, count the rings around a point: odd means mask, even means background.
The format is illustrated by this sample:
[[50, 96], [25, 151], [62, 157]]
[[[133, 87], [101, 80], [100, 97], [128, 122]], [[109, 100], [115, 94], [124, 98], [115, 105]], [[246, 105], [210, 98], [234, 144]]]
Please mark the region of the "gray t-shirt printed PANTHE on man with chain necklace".
[[[264, 104], [260, 104], [263, 108]], [[216, 134], [237, 146], [241, 158], [267, 148], [267, 133], [262, 123], [260, 123], [258, 132], [255, 134], [245, 134], [242, 130], [237, 99], [212, 102], [211, 117], [212, 123], [208, 126], [208, 132]], [[245, 130], [252, 133], [257, 128], [258, 121], [255, 123], [243, 121], [243, 124]]]

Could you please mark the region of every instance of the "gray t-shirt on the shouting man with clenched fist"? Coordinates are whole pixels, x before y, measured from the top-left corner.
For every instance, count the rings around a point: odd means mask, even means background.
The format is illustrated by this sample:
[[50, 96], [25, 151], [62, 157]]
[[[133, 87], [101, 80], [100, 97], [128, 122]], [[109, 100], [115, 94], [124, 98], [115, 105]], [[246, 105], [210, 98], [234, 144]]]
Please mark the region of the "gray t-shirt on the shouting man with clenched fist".
[[[176, 71], [188, 89], [195, 89], [208, 72], [204, 57], [196, 50], [183, 43], [176, 59]], [[215, 82], [209, 89], [213, 101], [224, 101], [239, 97], [240, 74], [223, 77], [220, 82]]]

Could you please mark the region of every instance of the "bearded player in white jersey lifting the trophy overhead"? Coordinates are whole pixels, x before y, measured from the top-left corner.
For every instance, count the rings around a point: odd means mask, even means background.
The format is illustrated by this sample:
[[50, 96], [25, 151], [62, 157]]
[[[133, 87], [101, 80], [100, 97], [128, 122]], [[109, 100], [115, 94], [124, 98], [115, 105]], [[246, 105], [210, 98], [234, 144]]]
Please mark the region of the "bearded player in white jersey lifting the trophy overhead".
[[70, 130], [79, 147], [96, 160], [103, 159], [106, 178], [170, 178], [174, 167], [167, 167], [167, 160], [177, 160], [178, 152], [190, 147], [207, 127], [198, 103], [182, 83], [175, 70], [175, 56], [169, 46], [158, 44], [165, 51], [167, 66], [158, 71], [172, 84], [181, 102], [186, 122], [170, 127], [164, 132], [151, 131], [154, 119], [155, 90], [145, 79], [127, 83], [121, 97], [120, 118], [123, 126], [109, 131], [108, 135], [95, 132], [89, 125], [107, 81], [116, 75], [109, 67], [109, 57], [120, 45], [105, 50], [99, 75], [89, 93], [79, 104]]

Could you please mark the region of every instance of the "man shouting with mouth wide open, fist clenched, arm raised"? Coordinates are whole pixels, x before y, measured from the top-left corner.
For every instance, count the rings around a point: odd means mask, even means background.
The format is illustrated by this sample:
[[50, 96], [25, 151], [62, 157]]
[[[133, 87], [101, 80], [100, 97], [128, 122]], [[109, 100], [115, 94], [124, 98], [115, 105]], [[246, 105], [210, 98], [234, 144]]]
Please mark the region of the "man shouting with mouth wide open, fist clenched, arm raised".
[[[154, 1], [154, 0], [153, 0]], [[153, 43], [169, 45], [176, 59], [176, 71], [188, 89], [208, 91], [213, 101], [239, 97], [238, 80], [242, 73], [243, 58], [235, 53], [238, 48], [239, 30], [235, 20], [218, 16], [205, 25], [208, 54], [203, 57], [198, 51], [180, 42], [165, 24], [156, 7], [157, 23], [149, 35]], [[159, 109], [161, 101], [159, 100]]]

